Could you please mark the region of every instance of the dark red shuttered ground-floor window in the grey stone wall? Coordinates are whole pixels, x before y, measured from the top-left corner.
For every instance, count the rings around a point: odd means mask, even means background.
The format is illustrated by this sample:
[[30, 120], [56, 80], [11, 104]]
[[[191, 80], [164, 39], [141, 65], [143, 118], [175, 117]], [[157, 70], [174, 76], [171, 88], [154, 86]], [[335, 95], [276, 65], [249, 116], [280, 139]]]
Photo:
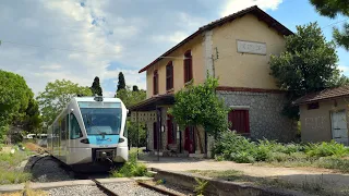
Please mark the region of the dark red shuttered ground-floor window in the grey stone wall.
[[232, 110], [228, 113], [230, 130], [239, 134], [250, 133], [249, 110]]

